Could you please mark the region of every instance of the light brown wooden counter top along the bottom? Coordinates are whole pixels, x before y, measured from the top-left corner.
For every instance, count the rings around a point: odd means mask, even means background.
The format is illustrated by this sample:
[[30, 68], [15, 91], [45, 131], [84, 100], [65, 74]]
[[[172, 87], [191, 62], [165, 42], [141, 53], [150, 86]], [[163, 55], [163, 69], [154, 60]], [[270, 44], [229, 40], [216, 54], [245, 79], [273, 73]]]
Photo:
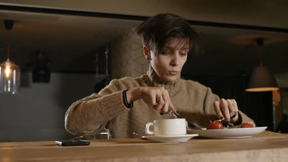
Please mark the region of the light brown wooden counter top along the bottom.
[[0, 143], [0, 162], [288, 162], [288, 135], [264, 131], [245, 139], [154, 143], [90, 140], [89, 146], [50, 142]]

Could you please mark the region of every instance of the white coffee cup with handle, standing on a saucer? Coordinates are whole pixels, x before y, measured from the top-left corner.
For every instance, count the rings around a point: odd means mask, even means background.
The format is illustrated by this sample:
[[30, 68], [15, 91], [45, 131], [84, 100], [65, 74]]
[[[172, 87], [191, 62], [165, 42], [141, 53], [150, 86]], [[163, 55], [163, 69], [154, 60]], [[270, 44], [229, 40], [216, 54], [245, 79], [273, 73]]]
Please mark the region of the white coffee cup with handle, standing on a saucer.
[[[154, 130], [150, 131], [150, 126]], [[146, 124], [145, 132], [155, 136], [174, 136], [186, 134], [186, 120], [185, 119], [164, 119], [148, 122]]]

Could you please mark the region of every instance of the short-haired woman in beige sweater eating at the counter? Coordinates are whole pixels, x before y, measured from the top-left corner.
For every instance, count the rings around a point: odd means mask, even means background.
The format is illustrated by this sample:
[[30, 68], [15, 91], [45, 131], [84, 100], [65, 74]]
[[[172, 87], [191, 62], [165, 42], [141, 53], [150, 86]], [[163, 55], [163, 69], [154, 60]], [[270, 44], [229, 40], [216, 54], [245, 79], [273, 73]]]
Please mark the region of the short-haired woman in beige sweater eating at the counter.
[[[133, 132], [144, 134], [147, 122], [169, 119], [168, 109], [200, 127], [215, 119], [255, 126], [235, 100], [220, 100], [210, 88], [180, 78], [188, 52], [198, 48], [198, 35], [185, 19], [159, 14], [141, 23], [136, 33], [142, 38], [144, 57], [151, 62], [147, 74], [112, 80], [98, 94], [73, 103], [65, 116], [69, 132], [93, 135], [106, 128], [112, 138], [132, 138]], [[150, 102], [144, 102], [142, 94]]]

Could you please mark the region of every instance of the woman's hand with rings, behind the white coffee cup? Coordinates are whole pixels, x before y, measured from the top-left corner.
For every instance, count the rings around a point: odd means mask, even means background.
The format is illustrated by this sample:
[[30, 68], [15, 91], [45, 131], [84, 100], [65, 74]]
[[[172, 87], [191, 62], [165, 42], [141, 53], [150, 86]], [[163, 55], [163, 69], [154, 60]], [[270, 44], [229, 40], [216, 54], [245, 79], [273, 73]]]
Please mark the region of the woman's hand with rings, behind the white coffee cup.
[[150, 99], [144, 101], [148, 105], [148, 107], [152, 107], [153, 109], [159, 111], [160, 114], [167, 113], [168, 109], [172, 110], [174, 114], [178, 114], [177, 110], [171, 102], [168, 91], [164, 87], [132, 88], [127, 91], [128, 103], [141, 99], [140, 96], [142, 94], [145, 94]]

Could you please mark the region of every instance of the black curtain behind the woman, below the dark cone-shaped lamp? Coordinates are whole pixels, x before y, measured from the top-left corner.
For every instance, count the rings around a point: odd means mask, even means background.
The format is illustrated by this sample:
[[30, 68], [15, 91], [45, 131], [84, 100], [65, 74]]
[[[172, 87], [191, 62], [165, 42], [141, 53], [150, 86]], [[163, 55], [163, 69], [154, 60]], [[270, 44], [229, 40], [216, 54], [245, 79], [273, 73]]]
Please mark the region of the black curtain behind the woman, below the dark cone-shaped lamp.
[[210, 87], [220, 98], [235, 99], [239, 110], [255, 121], [256, 126], [267, 126], [267, 130], [274, 130], [272, 92], [246, 92], [247, 76], [183, 76], [182, 78]]

